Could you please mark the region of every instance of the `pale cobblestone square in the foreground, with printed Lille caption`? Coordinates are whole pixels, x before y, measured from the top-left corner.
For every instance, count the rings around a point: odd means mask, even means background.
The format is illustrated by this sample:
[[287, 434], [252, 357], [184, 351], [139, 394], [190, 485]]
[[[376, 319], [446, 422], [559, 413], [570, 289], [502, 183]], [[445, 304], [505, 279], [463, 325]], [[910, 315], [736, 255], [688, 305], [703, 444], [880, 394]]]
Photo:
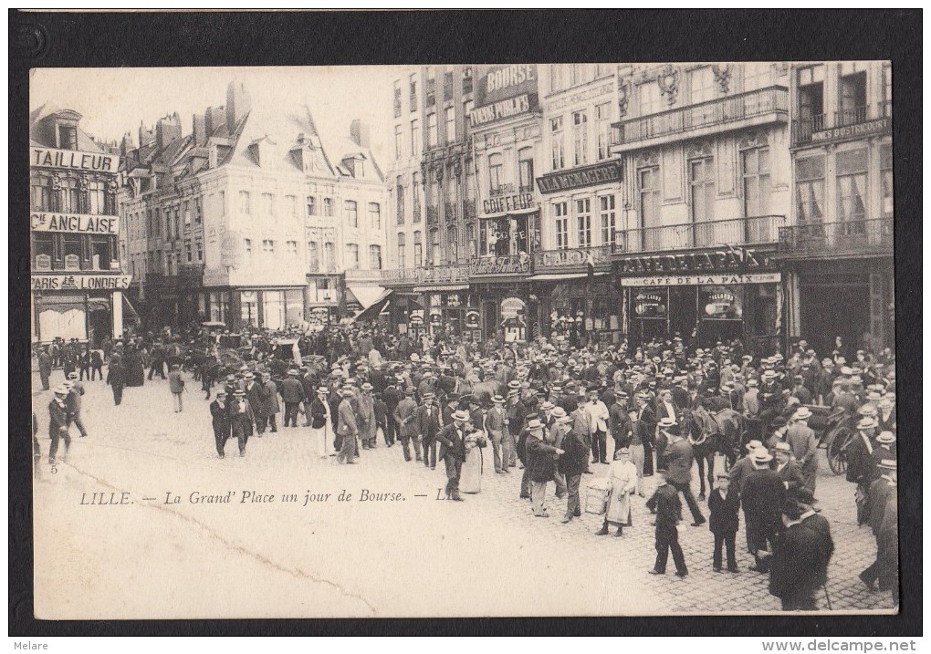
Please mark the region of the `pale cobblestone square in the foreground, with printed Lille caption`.
[[[58, 370], [53, 385], [57, 380]], [[688, 578], [674, 576], [671, 565], [666, 576], [656, 577], [647, 572], [655, 554], [652, 516], [639, 498], [634, 527], [623, 538], [596, 537], [599, 515], [560, 525], [564, 501], [555, 497], [547, 500], [552, 517], [534, 518], [529, 502], [518, 497], [519, 471], [493, 474], [491, 450], [480, 494], [466, 495], [461, 504], [437, 501], [445, 474], [406, 463], [399, 446], [380, 443], [363, 451], [358, 465], [336, 466], [332, 458], [313, 456], [306, 428], [279, 428], [278, 434], [251, 438], [245, 458], [229, 443], [227, 458], [219, 460], [208, 403], [193, 380], [181, 414], [172, 413], [163, 380], [128, 388], [120, 407], [113, 406], [103, 382], [85, 385], [88, 438], [77, 438], [73, 429], [68, 462], [55, 474], [47, 464], [49, 394], [33, 395], [44, 455], [35, 486], [39, 617], [83, 617], [88, 597], [108, 586], [123, 591], [110, 592], [107, 617], [156, 617], [153, 607], [157, 617], [228, 616], [236, 613], [236, 588], [244, 582], [255, 589], [260, 614], [276, 617], [637, 615], [779, 607], [767, 592], [766, 576], [747, 569], [752, 559], [742, 525], [739, 574], [714, 573], [708, 528], [687, 527], [681, 544]], [[39, 387], [35, 376], [34, 388]], [[606, 468], [593, 466], [594, 474], [583, 476], [583, 501], [585, 485]], [[872, 561], [875, 542], [868, 528], [856, 526], [852, 485], [830, 474], [824, 460], [820, 471], [817, 498], [836, 547], [830, 607], [892, 609], [889, 594], [870, 593], [857, 579]], [[696, 471], [693, 476], [696, 487]], [[403, 506], [356, 501], [363, 488], [401, 493]], [[354, 501], [337, 501], [343, 489]], [[193, 492], [230, 490], [230, 504], [190, 501]], [[246, 490], [276, 499], [242, 503]], [[122, 491], [131, 494], [132, 505], [81, 505], [90, 493], [119, 497]], [[303, 506], [305, 492], [331, 498], [326, 505]], [[298, 501], [282, 503], [287, 493]], [[180, 502], [167, 503], [167, 494]], [[135, 574], [115, 579], [112, 562]], [[80, 579], [73, 569], [83, 571]], [[474, 574], [463, 574], [469, 570]], [[380, 583], [372, 584], [372, 575]], [[55, 612], [42, 615], [43, 598], [52, 596], [59, 600]], [[828, 608], [824, 594], [818, 607]]]

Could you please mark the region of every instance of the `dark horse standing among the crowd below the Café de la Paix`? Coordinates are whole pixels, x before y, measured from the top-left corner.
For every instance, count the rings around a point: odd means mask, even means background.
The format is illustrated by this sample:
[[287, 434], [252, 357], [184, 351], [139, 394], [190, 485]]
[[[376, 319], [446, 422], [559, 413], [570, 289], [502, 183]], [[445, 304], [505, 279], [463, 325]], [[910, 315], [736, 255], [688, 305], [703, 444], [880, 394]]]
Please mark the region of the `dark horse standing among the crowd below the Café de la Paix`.
[[688, 434], [695, 462], [698, 464], [698, 480], [701, 483], [698, 500], [704, 500], [705, 464], [708, 464], [708, 492], [710, 492], [714, 490], [715, 455], [722, 455], [725, 470], [734, 465], [737, 448], [740, 446], [744, 433], [745, 419], [742, 414], [730, 407], [709, 413], [705, 407], [699, 405], [685, 416], [684, 421], [686, 423], [685, 433]]

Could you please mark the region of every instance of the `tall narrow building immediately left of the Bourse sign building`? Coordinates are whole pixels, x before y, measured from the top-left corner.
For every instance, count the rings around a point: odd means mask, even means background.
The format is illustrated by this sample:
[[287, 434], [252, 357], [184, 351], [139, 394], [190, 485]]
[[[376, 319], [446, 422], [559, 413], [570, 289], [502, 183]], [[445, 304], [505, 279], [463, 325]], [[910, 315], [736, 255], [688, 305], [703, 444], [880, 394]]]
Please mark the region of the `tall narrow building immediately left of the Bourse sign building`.
[[387, 173], [393, 271], [385, 285], [394, 291], [392, 322], [415, 336], [440, 327], [461, 332], [473, 308], [464, 293], [477, 227], [473, 96], [468, 66], [408, 67], [393, 80], [395, 164]]

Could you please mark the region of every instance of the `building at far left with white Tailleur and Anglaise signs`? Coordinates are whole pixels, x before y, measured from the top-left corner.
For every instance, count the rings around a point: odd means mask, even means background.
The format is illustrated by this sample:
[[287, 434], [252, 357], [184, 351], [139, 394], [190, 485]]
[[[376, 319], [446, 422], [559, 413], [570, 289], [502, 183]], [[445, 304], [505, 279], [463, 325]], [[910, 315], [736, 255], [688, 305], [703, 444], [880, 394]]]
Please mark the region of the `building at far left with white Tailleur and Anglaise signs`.
[[81, 118], [48, 104], [30, 115], [35, 342], [61, 337], [97, 345], [123, 333], [130, 277], [116, 248], [119, 155], [95, 143]]

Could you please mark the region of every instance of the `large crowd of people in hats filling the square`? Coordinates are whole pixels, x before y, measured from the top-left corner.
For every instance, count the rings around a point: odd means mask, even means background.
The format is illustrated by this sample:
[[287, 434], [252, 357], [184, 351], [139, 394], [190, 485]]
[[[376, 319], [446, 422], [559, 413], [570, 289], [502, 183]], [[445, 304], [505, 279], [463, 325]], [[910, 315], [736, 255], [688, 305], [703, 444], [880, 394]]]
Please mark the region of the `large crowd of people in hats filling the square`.
[[[236, 357], [224, 359], [224, 350]], [[80, 362], [80, 347], [59, 348], [61, 362], [74, 362], [75, 351]], [[46, 389], [54, 356], [39, 354]], [[678, 336], [576, 349], [542, 337], [473, 343], [448, 332], [411, 339], [353, 325], [316, 334], [195, 327], [111, 342], [101, 358], [116, 405], [124, 386], [142, 384], [144, 365], [149, 379], [168, 370], [176, 411], [183, 410], [185, 369], [202, 381], [207, 399], [217, 383], [209, 414], [221, 459], [230, 440], [245, 457], [250, 437], [293, 429], [307, 432], [319, 459], [338, 464], [399, 445], [399, 462], [439, 463], [447, 498], [463, 501], [480, 491], [482, 452], [490, 449], [488, 474], [519, 475], [515, 491], [533, 516], [549, 517], [546, 494], [555, 488], [566, 502], [562, 523], [582, 514], [583, 476], [603, 473], [588, 485], [603, 488], [603, 501], [585, 510], [603, 513], [598, 535], [616, 529], [622, 537], [634, 498], [642, 498], [655, 516], [653, 574], [666, 573], [671, 553], [676, 574], [688, 575], [680, 497], [693, 527], [708, 524], [716, 572], [739, 571], [742, 513], [749, 570], [769, 575], [770, 592], [787, 610], [815, 608], [826, 587], [834, 546], [816, 500], [817, 450], [824, 416], [843, 414], [856, 425], [843, 454], [855, 487], [851, 510], [877, 543], [860, 579], [897, 600], [896, 380], [888, 349], [819, 357], [800, 340], [785, 355], [760, 357], [738, 340], [703, 349]], [[48, 404], [50, 462], [60, 441], [67, 453], [71, 424], [86, 435], [79, 375], [83, 368], [65, 368], [71, 385], [56, 387]], [[715, 459], [721, 467], [709, 473], [708, 492], [700, 480], [696, 498], [693, 463]], [[607, 468], [594, 468], [601, 464]]]

